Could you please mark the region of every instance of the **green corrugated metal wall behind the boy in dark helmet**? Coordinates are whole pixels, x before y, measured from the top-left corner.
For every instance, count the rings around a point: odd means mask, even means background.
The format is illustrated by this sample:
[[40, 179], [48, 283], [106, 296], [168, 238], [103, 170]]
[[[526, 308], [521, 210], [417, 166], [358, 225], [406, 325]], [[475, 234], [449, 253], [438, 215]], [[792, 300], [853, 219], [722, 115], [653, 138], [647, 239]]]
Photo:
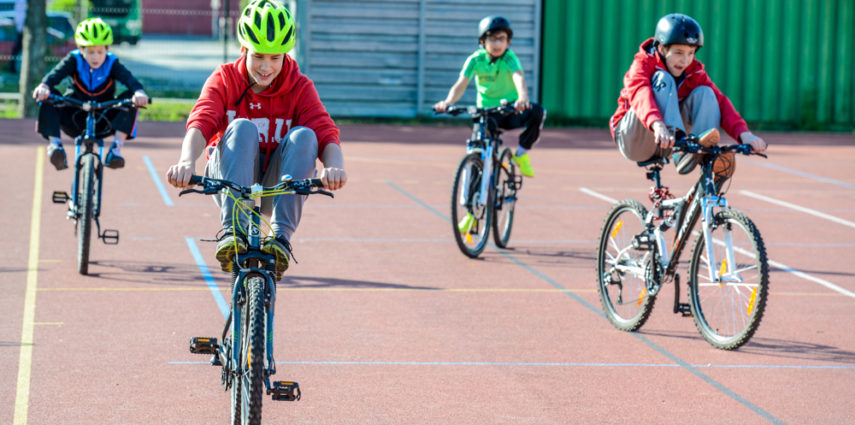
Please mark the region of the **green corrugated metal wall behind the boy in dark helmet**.
[[632, 55], [672, 12], [701, 24], [697, 58], [749, 122], [855, 126], [853, 0], [544, 0], [550, 116], [606, 125]]

